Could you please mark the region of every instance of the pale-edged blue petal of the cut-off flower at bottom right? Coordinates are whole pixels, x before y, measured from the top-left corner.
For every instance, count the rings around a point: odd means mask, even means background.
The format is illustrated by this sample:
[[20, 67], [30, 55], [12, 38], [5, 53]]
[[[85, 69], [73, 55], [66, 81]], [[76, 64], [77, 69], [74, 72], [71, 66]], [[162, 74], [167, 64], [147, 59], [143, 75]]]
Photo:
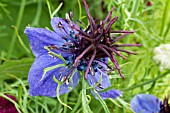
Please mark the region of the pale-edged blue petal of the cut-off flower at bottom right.
[[150, 94], [138, 94], [131, 100], [131, 108], [136, 113], [157, 113], [161, 101]]

